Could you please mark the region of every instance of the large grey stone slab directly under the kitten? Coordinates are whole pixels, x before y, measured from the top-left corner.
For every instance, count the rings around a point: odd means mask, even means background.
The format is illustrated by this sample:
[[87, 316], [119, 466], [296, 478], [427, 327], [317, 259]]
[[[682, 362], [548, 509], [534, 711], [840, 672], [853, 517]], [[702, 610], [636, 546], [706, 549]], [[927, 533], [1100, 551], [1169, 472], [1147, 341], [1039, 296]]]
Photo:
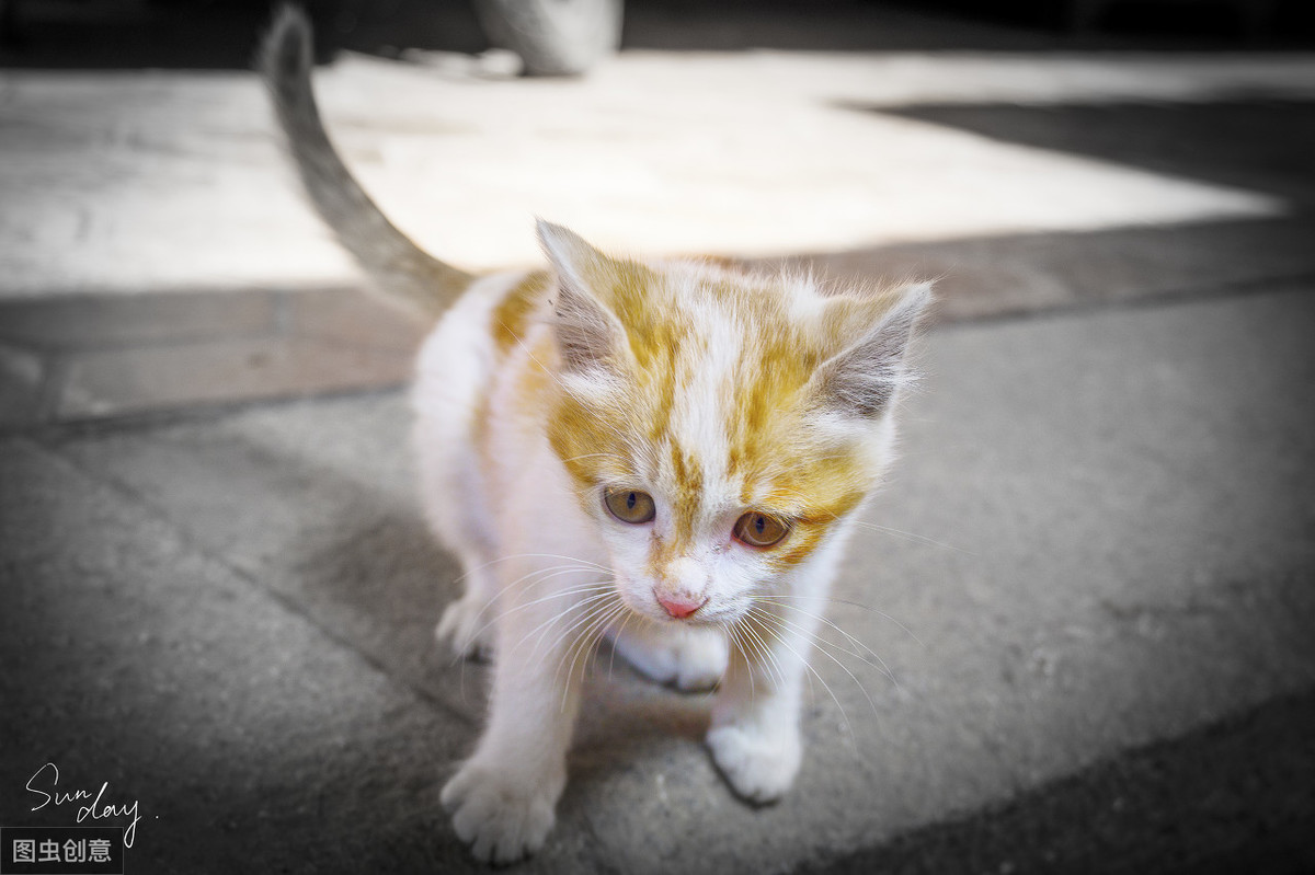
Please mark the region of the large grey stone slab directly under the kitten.
[[[698, 744], [706, 699], [617, 665], [592, 686], [552, 853], [589, 845], [627, 872], [822, 863], [1310, 687], [1310, 301], [932, 332], [905, 457], [828, 611], [882, 662], [819, 645], [798, 786], [735, 801]], [[58, 449], [473, 725], [484, 670], [430, 637], [455, 568], [416, 507], [406, 420], [400, 395], [308, 401]]]

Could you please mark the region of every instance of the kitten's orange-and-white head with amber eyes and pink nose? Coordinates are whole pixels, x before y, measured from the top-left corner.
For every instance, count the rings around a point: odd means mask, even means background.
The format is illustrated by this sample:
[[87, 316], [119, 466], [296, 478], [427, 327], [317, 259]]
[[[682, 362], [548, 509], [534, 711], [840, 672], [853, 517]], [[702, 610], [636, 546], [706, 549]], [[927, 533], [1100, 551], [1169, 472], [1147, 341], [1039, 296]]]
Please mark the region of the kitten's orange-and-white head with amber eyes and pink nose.
[[659, 621], [734, 623], [839, 540], [893, 441], [930, 288], [821, 294], [811, 280], [610, 259], [540, 223], [558, 275], [554, 451]]

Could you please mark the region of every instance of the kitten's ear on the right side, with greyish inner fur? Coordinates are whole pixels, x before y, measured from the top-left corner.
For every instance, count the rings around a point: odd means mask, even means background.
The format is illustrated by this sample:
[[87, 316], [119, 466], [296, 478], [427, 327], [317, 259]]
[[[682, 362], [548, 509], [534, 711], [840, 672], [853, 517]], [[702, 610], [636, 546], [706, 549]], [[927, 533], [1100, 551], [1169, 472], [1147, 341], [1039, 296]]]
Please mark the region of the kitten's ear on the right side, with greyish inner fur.
[[876, 419], [907, 380], [905, 356], [919, 319], [931, 303], [931, 282], [902, 290], [901, 298], [857, 343], [822, 363], [813, 374], [813, 397], [828, 413]]

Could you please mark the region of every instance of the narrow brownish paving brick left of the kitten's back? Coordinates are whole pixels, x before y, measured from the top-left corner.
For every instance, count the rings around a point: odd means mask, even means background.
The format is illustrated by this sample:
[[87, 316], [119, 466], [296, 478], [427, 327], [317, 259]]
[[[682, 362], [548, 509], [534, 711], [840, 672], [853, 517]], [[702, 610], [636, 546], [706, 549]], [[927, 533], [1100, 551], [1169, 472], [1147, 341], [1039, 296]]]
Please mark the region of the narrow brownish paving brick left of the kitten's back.
[[306, 339], [256, 338], [70, 353], [59, 418], [393, 386], [412, 356]]

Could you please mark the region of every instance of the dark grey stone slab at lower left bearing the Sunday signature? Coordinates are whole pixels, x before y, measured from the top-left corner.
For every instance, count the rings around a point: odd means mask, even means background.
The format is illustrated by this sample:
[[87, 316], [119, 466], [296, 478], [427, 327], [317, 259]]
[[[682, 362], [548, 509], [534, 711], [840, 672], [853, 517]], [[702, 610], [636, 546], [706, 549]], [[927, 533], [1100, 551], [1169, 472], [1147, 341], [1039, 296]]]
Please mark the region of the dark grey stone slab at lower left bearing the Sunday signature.
[[[128, 871], [487, 871], [438, 801], [473, 727], [184, 529], [8, 440], [0, 556], [0, 822], [75, 824], [72, 804], [30, 809], [53, 762], [62, 791], [138, 803]], [[539, 866], [598, 861], [565, 841]]]

